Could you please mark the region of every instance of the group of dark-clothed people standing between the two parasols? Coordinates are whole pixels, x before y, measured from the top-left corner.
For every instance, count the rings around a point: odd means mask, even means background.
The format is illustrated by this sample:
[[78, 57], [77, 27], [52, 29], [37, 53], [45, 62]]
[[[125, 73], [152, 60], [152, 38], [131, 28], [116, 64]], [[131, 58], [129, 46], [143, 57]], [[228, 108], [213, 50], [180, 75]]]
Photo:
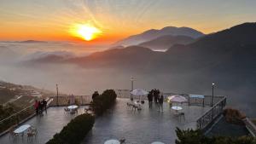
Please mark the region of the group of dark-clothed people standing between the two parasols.
[[159, 107], [159, 111], [163, 112], [164, 95], [160, 94], [159, 89], [152, 89], [151, 91], [149, 91], [148, 93], [149, 108], [152, 108], [153, 101]]

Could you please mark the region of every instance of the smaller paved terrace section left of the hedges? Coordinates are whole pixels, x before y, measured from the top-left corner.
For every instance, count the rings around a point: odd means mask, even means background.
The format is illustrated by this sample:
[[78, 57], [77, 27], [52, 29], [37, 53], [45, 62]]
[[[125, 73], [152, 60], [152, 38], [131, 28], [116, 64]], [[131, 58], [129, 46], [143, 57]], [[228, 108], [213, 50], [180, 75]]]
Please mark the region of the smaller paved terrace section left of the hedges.
[[[79, 113], [82, 112], [84, 112], [84, 107], [79, 108]], [[0, 137], [0, 144], [44, 144], [49, 141], [56, 132], [60, 132], [62, 128], [76, 116], [77, 115], [70, 113], [65, 114], [64, 107], [49, 107], [47, 114], [44, 112], [44, 116], [36, 116], [24, 123], [31, 124], [38, 129], [36, 138], [33, 138], [32, 141], [27, 141], [26, 136], [12, 139], [9, 137], [9, 134], [6, 134]]]

